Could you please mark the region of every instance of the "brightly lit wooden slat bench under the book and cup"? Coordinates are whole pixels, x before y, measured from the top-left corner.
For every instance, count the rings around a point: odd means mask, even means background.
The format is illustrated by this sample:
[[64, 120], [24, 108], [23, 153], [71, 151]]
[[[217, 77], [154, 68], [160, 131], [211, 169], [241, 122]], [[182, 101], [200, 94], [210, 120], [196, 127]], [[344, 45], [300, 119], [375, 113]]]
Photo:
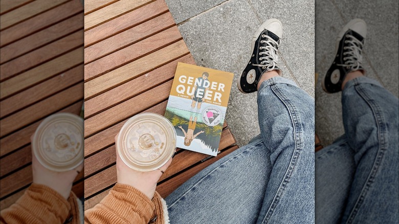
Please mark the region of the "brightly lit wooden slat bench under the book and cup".
[[[195, 64], [164, 0], [85, 1], [84, 208], [117, 182], [115, 136], [130, 117], [164, 115], [177, 63]], [[237, 149], [225, 123], [220, 153], [178, 149], [157, 191], [166, 197]]]

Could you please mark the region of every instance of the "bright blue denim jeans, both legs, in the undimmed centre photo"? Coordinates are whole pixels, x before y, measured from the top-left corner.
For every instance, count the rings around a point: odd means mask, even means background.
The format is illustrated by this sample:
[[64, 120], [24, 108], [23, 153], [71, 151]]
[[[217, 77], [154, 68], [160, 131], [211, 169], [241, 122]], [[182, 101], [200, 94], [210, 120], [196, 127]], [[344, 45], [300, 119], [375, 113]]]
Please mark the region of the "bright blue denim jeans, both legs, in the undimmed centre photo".
[[314, 111], [294, 82], [264, 81], [261, 134], [171, 193], [170, 223], [314, 223]]

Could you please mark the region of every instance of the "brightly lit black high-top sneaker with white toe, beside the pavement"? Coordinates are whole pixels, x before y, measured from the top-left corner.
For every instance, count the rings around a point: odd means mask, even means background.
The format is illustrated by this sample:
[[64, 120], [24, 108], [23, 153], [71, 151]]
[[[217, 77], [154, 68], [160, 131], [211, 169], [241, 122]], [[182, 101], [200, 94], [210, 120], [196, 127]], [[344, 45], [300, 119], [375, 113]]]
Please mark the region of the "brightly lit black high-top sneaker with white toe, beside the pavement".
[[282, 24], [278, 19], [268, 19], [256, 31], [252, 39], [249, 62], [237, 79], [237, 87], [242, 93], [257, 91], [263, 73], [281, 70], [277, 67], [277, 52], [282, 36]]

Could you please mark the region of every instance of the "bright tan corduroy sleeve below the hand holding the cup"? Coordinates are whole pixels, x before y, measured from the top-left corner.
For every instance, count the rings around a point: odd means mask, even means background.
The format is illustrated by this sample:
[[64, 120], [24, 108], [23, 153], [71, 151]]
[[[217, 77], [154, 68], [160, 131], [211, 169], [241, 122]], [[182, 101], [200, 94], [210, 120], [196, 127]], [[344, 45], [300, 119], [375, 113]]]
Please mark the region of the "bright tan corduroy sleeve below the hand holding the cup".
[[147, 224], [155, 215], [155, 223], [163, 223], [161, 197], [156, 192], [150, 200], [134, 187], [116, 184], [98, 205], [84, 212], [85, 223]]

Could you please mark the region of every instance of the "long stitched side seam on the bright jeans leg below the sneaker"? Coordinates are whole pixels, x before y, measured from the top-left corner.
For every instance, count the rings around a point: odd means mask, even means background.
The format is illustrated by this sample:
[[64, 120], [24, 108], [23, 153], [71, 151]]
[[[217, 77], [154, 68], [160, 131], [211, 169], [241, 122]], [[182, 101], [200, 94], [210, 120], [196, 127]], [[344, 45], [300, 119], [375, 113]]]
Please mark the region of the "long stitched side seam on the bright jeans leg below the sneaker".
[[295, 142], [295, 148], [293, 151], [293, 154], [291, 156], [291, 161], [290, 164], [285, 171], [283, 180], [280, 183], [280, 186], [277, 189], [277, 193], [275, 194], [272, 204], [269, 207], [268, 212], [265, 214], [262, 223], [268, 223], [268, 220], [270, 217], [273, 215], [275, 208], [277, 207], [278, 203], [280, 202], [280, 198], [285, 192], [286, 185], [290, 182], [291, 176], [294, 172], [294, 168], [298, 162], [298, 158], [300, 155], [301, 147], [303, 146], [303, 136], [302, 136], [302, 127], [300, 125], [299, 118], [297, 114], [295, 113], [296, 108], [294, 105], [291, 104], [290, 100], [287, 100], [287, 98], [284, 96], [284, 94], [280, 91], [279, 87], [277, 85], [271, 85], [271, 89], [273, 93], [280, 99], [280, 101], [285, 105], [287, 110], [289, 111], [290, 117], [291, 117], [291, 122], [293, 124], [293, 132], [294, 132], [294, 142]]

